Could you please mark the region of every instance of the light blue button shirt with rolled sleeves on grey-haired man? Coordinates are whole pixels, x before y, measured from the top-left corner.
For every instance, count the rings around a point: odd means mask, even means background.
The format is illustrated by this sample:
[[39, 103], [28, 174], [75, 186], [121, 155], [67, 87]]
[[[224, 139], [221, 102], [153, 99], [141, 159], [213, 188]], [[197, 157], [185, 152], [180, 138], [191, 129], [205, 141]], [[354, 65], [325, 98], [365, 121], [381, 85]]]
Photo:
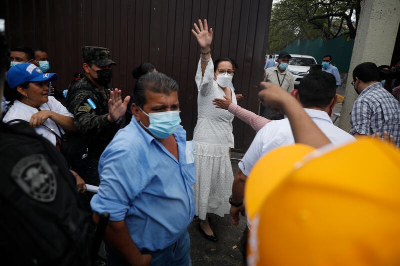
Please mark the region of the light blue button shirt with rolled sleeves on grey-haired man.
[[99, 160], [100, 186], [91, 208], [109, 212], [110, 221], [125, 221], [139, 250], [172, 245], [194, 216], [192, 148], [186, 149], [182, 126], [173, 136], [179, 161], [132, 119]]

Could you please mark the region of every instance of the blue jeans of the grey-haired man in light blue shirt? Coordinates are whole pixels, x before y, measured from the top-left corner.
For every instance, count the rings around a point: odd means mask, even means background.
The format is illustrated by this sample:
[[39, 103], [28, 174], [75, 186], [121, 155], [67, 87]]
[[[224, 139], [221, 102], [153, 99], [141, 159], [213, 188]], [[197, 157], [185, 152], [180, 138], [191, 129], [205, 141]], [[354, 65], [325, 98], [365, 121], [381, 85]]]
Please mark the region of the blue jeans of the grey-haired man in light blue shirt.
[[[110, 253], [107, 247], [105, 252], [108, 266], [127, 265], [118, 255]], [[174, 244], [163, 250], [144, 250], [141, 253], [151, 255], [151, 266], [191, 266], [189, 233], [186, 230]]]

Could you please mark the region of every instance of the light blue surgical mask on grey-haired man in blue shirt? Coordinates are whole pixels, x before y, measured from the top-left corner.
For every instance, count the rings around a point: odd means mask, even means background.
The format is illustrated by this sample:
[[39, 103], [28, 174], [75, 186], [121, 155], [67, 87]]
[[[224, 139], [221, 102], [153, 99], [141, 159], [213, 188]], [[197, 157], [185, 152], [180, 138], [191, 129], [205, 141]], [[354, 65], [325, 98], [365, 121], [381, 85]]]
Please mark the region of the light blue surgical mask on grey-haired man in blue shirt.
[[140, 107], [139, 109], [150, 118], [150, 125], [144, 126], [150, 133], [157, 139], [165, 139], [175, 132], [176, 128], [180, 124], [180, 111], [167, 111], [160, 113], [149, 113], [144, 112]]

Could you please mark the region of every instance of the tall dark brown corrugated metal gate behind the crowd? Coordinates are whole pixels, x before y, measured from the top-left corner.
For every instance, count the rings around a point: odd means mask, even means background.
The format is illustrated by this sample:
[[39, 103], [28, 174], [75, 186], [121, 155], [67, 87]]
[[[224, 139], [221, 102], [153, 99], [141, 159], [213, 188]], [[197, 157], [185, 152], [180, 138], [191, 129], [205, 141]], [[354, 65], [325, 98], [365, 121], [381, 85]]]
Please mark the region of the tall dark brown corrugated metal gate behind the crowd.
[[[193, 22], [208, 20], [214, 30], [212, 58], [237, 61], [233, 84], [236, 93], [246, 94], [239, 104], [257, 112], [271, 5], [272, 0], [6, 0], [0, 17], [5, 18], [9, 47], [23, 44], [48, 51], [59, 89], [66, 88], [74, 72], [82, 72], [81, 46], [111, 49], [117, 66], [110, 85], [125, 95], [133, 90], [132, 68], [151, 62], [177, 80], [182, 125], [191, 139], [200, 56], [190, 32]], [[255, 132], [235, 118], [233, 134], [236, 149], [245, 150]]]

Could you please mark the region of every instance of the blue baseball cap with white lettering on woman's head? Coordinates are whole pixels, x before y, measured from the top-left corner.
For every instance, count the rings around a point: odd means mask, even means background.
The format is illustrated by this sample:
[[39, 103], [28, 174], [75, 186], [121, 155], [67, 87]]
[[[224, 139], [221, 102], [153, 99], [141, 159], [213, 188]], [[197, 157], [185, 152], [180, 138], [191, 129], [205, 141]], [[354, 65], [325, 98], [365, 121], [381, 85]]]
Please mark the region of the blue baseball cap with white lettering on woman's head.
[[10, 88], [15, 88], [25, 82], [54, 81], [58, 78], [55, 73], [43, 73], [31, 63], [21, 63], [11, 67], [7, 73], [7, 83]]

